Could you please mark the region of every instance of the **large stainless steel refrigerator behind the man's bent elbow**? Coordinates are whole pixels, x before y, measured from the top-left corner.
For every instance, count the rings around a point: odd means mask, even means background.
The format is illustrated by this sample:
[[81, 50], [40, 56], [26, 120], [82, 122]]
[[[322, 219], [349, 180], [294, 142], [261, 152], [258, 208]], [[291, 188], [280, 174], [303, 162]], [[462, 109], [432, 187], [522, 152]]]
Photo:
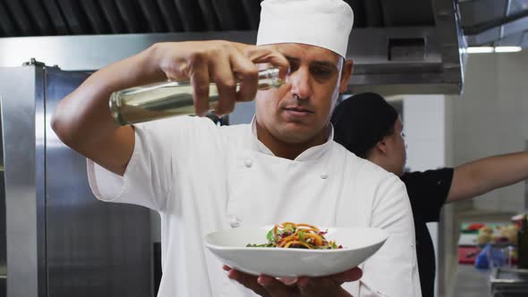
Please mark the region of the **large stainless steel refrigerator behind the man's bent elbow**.
[[0, 68], [0, 296], [152, 296], [149, 210], [103, 203], [50, 128], [89, 72]]

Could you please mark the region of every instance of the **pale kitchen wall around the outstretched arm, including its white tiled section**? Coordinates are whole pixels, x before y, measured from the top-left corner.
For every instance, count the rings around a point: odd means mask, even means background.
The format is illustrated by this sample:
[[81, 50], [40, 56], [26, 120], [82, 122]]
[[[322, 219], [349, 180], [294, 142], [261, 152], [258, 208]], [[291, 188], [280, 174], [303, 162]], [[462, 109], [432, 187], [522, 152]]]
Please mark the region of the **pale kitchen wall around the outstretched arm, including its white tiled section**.
[[[462, 96], [395, 96], [404, 102], [407, 167], [426, 170], [527, 149], [528, 51], [469, 55]], [[524, 182], [477, 199], [447, 205], [440, 229], [429, 225], [441, 271], [439, 296], [456, 276], [459, 218], [474, 213], [516, 213], [527, 208]]]

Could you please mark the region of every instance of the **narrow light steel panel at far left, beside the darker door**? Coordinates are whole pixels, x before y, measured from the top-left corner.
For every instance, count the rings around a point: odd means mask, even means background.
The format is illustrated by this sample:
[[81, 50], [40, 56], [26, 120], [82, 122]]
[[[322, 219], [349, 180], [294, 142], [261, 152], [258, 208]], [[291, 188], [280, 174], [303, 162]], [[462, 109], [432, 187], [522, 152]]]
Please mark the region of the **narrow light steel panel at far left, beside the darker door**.
[[34, 67], [0, 69], [4, 134], [7, 295], [38, 296], [38, 208]]

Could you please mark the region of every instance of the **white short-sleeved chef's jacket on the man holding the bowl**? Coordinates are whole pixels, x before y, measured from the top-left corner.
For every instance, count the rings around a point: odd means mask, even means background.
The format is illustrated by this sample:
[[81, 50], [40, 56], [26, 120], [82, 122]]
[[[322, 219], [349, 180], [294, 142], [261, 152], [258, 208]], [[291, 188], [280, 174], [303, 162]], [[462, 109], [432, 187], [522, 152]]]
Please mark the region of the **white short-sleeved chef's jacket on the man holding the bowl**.
[[420, 296], [413, 215], [396, 175], [333, 139], [294, 160], [275, 157], [255, 124], [218, 127], [183, 116], [135, 127], [123, 177], [88, 160], [98, 199], [155, 209], [161, 216], [163, 277], [158, 296], [255, 296], [228, 279], [203, 245], [206, 233], [284, 221], [379, 227], [387, 242], [362, 264], [354, 297]]

